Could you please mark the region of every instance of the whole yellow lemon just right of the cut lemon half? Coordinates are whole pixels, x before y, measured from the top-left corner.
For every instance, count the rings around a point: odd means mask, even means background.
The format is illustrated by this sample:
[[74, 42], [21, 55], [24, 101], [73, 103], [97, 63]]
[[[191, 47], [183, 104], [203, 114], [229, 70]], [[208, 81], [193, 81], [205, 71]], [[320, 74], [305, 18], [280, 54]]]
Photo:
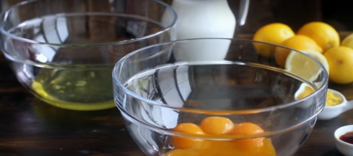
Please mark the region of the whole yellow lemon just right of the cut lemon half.
[[338, 46], [324, 54], [330, 67], [329, 80], [337, 84], [353, 82], [353, 49]]

